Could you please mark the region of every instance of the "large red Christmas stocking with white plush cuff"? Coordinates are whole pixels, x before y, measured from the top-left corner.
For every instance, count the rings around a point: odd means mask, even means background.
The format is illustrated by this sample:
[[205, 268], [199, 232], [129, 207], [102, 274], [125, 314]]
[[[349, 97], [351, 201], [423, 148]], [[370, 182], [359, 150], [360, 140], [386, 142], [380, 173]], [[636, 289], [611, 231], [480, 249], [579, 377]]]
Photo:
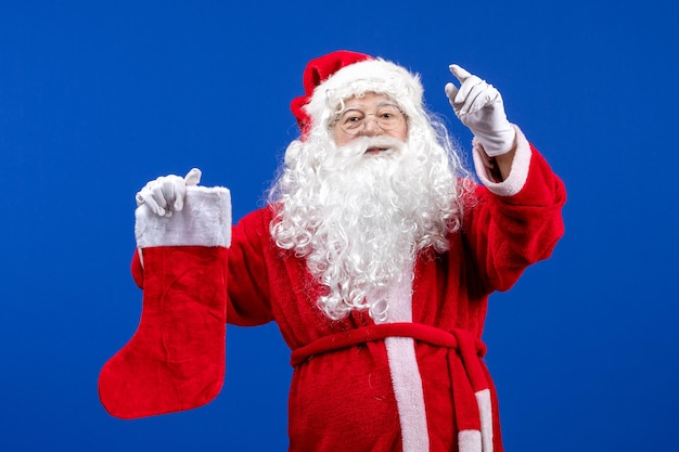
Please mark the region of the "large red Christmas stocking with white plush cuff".
[[[99, 393], [116, 417], [137, 418], [201, 406], [220, 391], [226, 362], [226, 189], [189, 188], [184, 208], [157, 217], [137, 209], [143, 288], [139, 328], [104, 364]], [[142, 269], [143, 261], [143, 269]]]

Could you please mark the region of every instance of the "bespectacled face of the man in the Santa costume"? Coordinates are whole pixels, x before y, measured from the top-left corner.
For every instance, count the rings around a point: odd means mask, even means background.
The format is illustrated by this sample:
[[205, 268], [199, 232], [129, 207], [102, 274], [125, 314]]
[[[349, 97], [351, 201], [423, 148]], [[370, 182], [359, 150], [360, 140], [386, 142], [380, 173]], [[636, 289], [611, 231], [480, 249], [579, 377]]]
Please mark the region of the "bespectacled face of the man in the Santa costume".
[[[359, 137], [388, 135], [401, 142], [408, 138], [408, 120], [396, 103], [386, 95], [368, 92], [360, 98], [349, 98], [337, 114], [332, 128], [337, 146]], [[380, 153], [370, 148], [368, 153]]]

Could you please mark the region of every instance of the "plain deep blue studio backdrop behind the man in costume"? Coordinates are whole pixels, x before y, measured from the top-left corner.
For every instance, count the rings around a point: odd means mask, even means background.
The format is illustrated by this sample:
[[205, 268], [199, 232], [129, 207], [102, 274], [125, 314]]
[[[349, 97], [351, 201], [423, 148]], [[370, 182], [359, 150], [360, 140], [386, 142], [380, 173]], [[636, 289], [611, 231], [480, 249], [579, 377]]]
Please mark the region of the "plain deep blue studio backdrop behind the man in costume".
[[503, 94], [564, 179], [553, 257], [491, 298], [508, 451], [676, 448], [677, 7], [648, 0], [0, 2], [0, 449], [281, 451], [292, 370], [276, 325], [229, 327], [210, 404], [133, 422], [99, 403], [133, 335], [134, 193], [203, 169], [233, 215], [297, 129], [306, 62], [335, 49], [422, 75], [456, 62]]

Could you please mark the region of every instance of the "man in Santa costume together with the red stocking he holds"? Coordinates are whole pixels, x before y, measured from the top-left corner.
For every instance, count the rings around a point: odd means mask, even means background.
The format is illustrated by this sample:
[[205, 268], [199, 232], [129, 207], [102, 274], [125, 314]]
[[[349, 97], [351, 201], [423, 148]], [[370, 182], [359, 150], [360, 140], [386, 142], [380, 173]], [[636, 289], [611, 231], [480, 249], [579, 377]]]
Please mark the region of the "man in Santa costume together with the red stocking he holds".
[[207, 403], [226, 323], [274, 321], [294, 366], [291, 451], [502, 450], [481, 340], [488, 296], [550, 256], [565, 191], [497, 89], [450, 70], [479, 183], [417, 75], [337, 51], [305, 69], [302, 134], [266, 208], [232, 225], [229, 191], [200, 186], [197, 169], [138, 193], [143, 310], [100, 376], [111, 414]]

